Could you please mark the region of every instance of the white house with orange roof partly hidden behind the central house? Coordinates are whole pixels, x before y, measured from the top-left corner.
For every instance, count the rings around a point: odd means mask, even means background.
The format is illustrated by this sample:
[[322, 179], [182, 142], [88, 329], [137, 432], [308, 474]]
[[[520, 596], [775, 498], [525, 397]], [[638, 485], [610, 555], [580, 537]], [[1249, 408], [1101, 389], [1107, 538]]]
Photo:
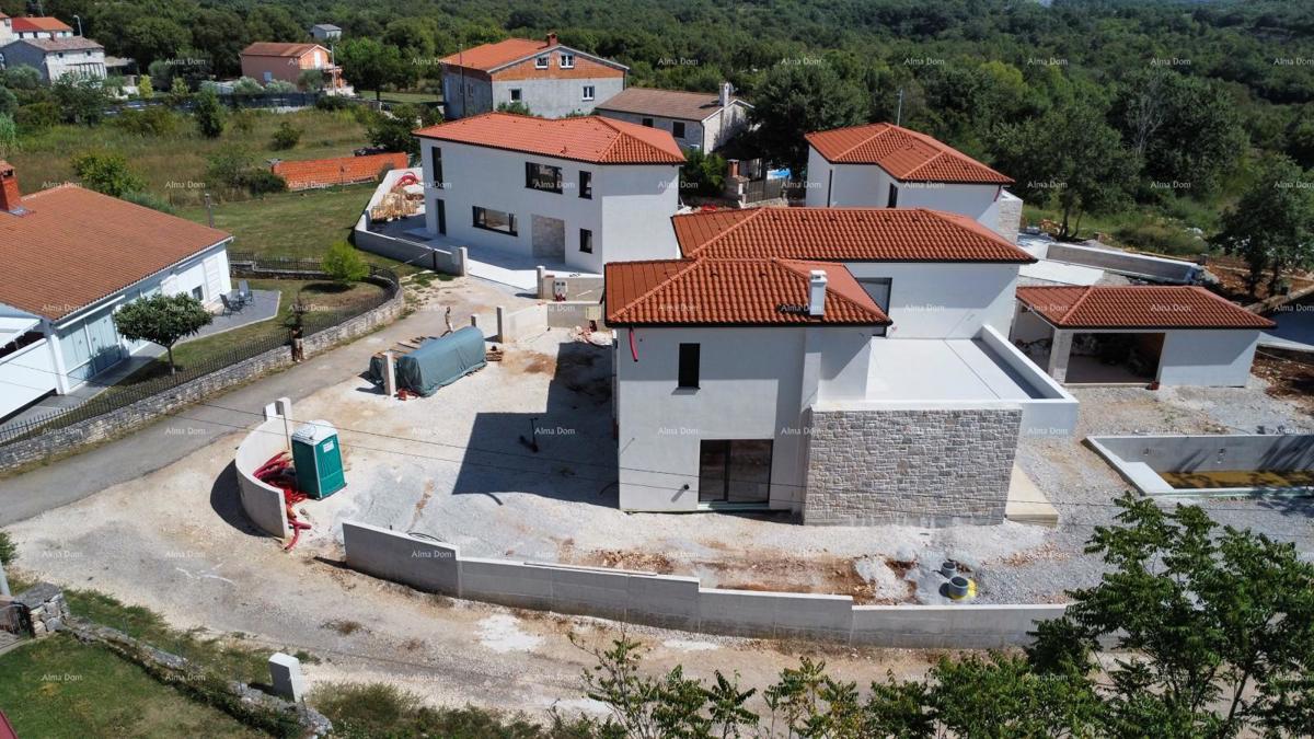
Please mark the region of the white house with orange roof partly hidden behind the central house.
[[934, 208], [975, 218], [1016, 242], [1022, 201], [1007, 175], [934, 138], [892, 124], [809, 133], [805, 203]]

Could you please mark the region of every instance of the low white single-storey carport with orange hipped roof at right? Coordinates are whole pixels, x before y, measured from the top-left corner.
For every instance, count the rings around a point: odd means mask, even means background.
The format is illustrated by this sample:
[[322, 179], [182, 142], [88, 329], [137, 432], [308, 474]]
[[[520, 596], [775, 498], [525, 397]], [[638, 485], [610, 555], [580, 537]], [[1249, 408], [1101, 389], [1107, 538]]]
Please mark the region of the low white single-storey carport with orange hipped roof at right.
[[1243, 387], [1275, 326], [1187, 285], [1022, 287], [1017, 304], [1012, 341], [1060, 383]]

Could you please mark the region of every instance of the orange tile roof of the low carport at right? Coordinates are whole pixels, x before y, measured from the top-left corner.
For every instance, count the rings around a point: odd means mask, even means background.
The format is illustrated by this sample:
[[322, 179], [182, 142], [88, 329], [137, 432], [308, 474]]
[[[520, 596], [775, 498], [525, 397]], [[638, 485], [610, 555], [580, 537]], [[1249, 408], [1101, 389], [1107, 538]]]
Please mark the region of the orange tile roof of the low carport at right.
[[1022, 301], [1062, 329], [1269, 329], [1272, 321], [1192, 285], [1017, 288]]

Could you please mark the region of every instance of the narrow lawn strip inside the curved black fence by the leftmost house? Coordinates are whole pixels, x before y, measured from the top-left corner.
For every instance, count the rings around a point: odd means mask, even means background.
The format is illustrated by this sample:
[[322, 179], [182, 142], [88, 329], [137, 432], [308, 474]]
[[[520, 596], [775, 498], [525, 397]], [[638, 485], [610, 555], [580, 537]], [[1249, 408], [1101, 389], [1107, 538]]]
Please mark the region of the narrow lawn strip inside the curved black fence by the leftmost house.
[[[351, 288], [342, 289], [332, 283], [315, 280], [248, 280], [251, 289], [279, 291], [279, 314], [268, 321], [213, 334], [173, 347], [173, 362], [179, 368], [188, 368], [213, 362], [214, 359], [230, 354], [234, 347], [277, 343], [286, 339], [288, 329], [292, 325], [292, 308], [298, 296], [311, 313], [334, 312], [350, 308], [353, 304], [364, 304], [376, 298], [384, 288], [373, 283], [356, 283]], [[309, 314], [307, 314], [309, 316]], [[168, 356], [162, 355], [150, 364], [133, 372], [113, 388], [105, 391], [110, 393], [125, 392], [138, 383], [154, 380], [168, 375]]]

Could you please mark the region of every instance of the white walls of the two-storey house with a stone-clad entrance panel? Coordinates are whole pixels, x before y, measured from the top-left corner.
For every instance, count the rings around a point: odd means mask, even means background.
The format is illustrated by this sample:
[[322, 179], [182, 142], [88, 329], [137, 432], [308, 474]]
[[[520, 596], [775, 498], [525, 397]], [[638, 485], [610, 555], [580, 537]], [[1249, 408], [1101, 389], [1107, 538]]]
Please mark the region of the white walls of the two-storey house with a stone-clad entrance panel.
[[[591, 164], [445, 141], [422, 139], [426, 226], [438, 233], [438, 205], [447, 213], [447, 237], [470, 246], [533, 254], [533, 216], [565, 222], [562, 259], [585, 272], [606, 262], [678, 256], [670, 217], [679, 203], [679, 168], [669, 164]], [[442, 150], [442, 189], [434, 187], [432, 149]], [[524, 187], [524, 163], [561, 167], [560, 193]], [[579, 197], [579, 172], [593, 174], [593, 199]], [[473, 208], [516, 216], [516, 235], [473, 225]], [[579, 229], [593, 231], [593, 254], [579, 251]], [[556, 259], [548, 259], [553, 262]]]

